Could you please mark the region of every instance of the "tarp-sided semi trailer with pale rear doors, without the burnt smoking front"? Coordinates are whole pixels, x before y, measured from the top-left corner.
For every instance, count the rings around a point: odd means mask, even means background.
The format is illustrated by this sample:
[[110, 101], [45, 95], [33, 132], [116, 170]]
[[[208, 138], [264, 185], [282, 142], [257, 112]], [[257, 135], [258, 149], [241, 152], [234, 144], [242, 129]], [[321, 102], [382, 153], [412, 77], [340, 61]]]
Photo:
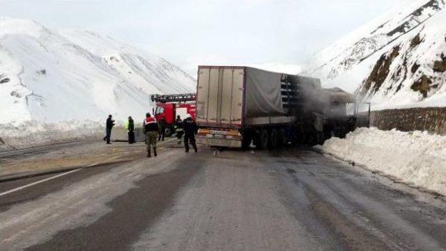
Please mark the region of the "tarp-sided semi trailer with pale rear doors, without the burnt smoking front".
[[199, 66], [197, 142], [259, 149], [295, 141], [298, 114], [319, 79], [268, 72], [253, 67]]

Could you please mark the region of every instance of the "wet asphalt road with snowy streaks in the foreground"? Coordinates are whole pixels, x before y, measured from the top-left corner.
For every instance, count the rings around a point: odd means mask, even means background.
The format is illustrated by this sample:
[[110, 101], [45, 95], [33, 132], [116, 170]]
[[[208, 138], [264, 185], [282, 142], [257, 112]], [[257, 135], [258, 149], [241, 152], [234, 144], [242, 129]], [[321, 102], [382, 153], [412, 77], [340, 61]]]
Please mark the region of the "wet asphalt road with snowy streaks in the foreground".
[[309, 149], [200, 150], [0, 196], [0, 250], [446, 250], [432, 195]]

